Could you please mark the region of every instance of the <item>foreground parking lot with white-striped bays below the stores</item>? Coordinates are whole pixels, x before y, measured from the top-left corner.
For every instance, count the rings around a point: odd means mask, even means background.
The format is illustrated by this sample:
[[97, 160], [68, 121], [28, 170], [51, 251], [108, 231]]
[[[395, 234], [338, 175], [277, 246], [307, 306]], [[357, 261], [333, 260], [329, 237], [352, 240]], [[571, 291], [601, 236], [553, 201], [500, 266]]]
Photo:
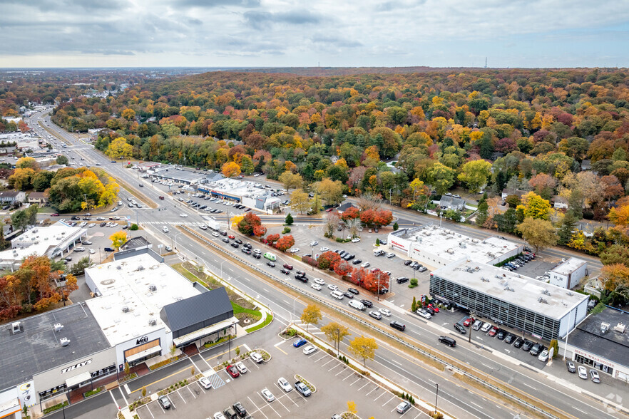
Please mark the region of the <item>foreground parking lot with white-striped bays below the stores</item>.
[[[275, 338], [275, 346], [268, 348], [271, 360], [261, 364], [250, 359], [243, 361], [248, 371], [237, 378], [232, 378], [225, 369], [214, 373], [210, 376], [213, 388], [209, 390], [193, 383], [173, 391], [168, 395], [172, 403], [169, 410], [155, 401], [134, 413], [141, 419], [204, 419], [240, 402], [254, 418], [330, 418], [346, 411], [347, 402], [354, 401], [358, 415], [363, 418], [390, 418], [393, 415], [417, 418], [422, 415], [415, 408], [398, 415], [394, 410], [401, 400], [396, 395], [320, 349], [306, 356], [303, 347], [292, 346], [293, 341]], [[277, 383], [278, 378], [283, 377], [294, 388], [296, 374], [315, 386], [312, 395], [304, 397], [295, 389], [286, 393]], [[275, 400], [269, 402], [263, 397], [261, 392], [265, 388]]]

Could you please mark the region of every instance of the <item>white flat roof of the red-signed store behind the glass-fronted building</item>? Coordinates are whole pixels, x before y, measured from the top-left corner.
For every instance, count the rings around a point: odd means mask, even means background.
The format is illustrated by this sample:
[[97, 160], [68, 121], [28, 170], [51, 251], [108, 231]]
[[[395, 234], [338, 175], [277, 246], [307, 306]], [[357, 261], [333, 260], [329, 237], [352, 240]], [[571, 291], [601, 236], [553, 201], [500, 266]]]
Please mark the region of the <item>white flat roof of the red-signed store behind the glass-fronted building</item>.
[[411, 240], [423, 249], [424, 252], [451, 261], [461, 258], [469, 258], [476, 262], [486, 263], [513, 249], [520, 244], [511, 242], [501, 237], [488, 237], [484, 240], [473, 239], [453, 230], [432, 224], [424, 224], [409, 232], [403, 239]]

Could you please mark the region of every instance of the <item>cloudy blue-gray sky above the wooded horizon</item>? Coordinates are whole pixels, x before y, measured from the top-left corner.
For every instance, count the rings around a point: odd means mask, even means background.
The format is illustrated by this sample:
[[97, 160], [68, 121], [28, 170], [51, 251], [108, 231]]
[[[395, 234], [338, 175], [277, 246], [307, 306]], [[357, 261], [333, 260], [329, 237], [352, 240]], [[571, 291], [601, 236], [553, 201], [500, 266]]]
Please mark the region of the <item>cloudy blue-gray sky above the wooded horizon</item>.
[[629, 0], [0, 0], [0, 67], [629, 67]]

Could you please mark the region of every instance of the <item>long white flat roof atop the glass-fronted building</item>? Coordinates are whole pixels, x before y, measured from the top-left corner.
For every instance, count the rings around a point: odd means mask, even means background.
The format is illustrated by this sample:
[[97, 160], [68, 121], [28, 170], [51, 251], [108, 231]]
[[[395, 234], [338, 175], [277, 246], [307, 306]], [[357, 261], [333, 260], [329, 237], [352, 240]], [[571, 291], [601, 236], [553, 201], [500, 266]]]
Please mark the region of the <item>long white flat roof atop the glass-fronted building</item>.
[[436, 269], [431, 276], [439, 276], [556, 320], [588, 299], [584, 294], [469, 259], [461, 259]]

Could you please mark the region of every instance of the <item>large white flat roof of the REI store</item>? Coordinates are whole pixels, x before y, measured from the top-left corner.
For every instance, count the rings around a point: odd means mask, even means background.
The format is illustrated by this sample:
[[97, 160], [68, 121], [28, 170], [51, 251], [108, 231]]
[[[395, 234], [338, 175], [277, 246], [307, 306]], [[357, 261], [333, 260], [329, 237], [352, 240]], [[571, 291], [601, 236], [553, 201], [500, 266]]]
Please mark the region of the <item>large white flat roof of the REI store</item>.
[[[193, 284], [149, 254], [86, 269], [101, 296], [86, 301], [111, 346], [168, 329], [160, 319], [163, 306], [200, 294]], [[155, 286], [155, 291], [150, 286]], [[123, 308], [128, 311], [123, 311]], [[155, 325], [149, 321], [155, 320]]]

